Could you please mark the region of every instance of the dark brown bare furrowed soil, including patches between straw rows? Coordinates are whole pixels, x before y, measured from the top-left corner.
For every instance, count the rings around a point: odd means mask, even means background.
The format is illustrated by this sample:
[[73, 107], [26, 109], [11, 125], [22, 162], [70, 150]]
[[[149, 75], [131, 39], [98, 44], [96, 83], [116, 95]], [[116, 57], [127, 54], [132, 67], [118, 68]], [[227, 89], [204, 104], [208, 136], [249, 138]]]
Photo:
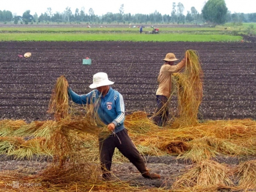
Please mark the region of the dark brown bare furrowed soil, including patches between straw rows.
[[[27, 122], [53, 119], [47, 114], [56, 79], [65, 75], [77, 94], [91, 91], [92, 76], [106, 72], [112, 87], [124, 97], [127, 114], [153, 113], [156, 105], [157, 75], [163, 59], [173, 52], [180, 60], [185, 51], [198, 51], [202, 62], [203, 100], [200, 120], [256, 117], [256, 43], [253, 42], [0, 42], [0, 119]], [[31, 52], [30, 58], [20, 57]], [[82, 59], [92, 59], [83, 65]], [[175, 110], [176, 98], [170, 107]], [[0, 171], [17, 170], [37, 174], [51, 158], [18, 161], [1, 156]], [[218, 156], [214, 159], [230, 167], [255, 156]], [[131, 163], [113, 163], [120, 180], [149, 188], [170, 187], [191, 162], [176, 156], [145, 156], [150, 171], [160, 180], [144, 179]], [[235, 183], [236, 181], [234, 181]]]

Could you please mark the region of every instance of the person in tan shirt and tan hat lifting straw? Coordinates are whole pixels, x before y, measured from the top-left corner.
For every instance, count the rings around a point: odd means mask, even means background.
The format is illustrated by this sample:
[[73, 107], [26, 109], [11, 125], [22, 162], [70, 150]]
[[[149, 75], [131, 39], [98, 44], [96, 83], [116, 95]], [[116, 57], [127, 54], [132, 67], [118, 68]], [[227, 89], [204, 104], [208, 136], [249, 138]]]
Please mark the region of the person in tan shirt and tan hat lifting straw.
[[153, 121], [158, 126], [164, 126], [168, 118], [168, 99], [171, 96], [172, 89], [172, 77], [173, 73], [179, 72], [186, 63], [184, 57], [180, 63], [174, 65], [174, 61], [177, 61], [173, 53], [166, 54], [163, 59], [165, 63], [162, 65], [159, 75], [157, 77], [158, 89], [156, 91], [156, 111], [153, 116]]

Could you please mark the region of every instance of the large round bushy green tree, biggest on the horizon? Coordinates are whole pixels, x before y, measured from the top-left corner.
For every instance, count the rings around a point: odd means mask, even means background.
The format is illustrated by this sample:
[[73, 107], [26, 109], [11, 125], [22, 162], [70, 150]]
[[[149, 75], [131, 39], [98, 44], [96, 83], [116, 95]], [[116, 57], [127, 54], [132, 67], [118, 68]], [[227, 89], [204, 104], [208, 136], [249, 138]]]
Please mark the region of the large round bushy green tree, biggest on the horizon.
[[208, 0], [202, 9], [202, 14], [205, 21], [219, 25], [226, 22], [227, 11], [225, 0]]

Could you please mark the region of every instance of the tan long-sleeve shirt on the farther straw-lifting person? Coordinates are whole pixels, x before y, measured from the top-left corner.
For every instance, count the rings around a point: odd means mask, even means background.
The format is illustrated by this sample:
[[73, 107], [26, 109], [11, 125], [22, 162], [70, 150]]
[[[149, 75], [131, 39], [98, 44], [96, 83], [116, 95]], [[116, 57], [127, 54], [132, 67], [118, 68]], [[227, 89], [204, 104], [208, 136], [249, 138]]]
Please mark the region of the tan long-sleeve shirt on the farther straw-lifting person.
[[179, 72], [182, 67], [185, 65], [186, 59], [182, 59], [180, 63], [177, 65], [169, 65], [164, 64], [162, 65], [159, 75], [157, 77], [158, 82], [158, 89], [156, 91], [156, 95], [164, 95], [166, 97], [171, 96], [171, 89], [172, 89], [172, 77], [173, 73]]

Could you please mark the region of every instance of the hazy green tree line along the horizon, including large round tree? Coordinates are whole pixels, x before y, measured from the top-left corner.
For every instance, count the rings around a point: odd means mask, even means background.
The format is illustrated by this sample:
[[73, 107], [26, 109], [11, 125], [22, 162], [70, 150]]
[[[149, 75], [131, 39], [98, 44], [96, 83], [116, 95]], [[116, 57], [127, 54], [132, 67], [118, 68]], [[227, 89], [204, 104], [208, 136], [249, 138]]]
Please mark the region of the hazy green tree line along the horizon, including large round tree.
[[225, 22], [256, 22], [256, 13], [231, 13], [226, 7], [225, 0], [208, 0], [202, 12], [199, 13], [195, 7], [191, 7], [184, 15], [184, 6], [182, 3], [172, 4], [172, 11], [170, 15], [162, 15], [158, 11], [150, 14], [131, 15], [131, 13], [124, 13], [124, 4], [119, 8], [118, 13], [107, 12], [105, 15], [98, 16], [94, 14], [92, 8], [85, 12], [85, 9], [76, 9], [72, 13], [70, 7], [60, 13], [53, 13], [52, 8], [47, 8], [47, 11], [41, 13], [40, 16], [35, 13], [30, 15], [30, 10], [26, 10], [22, 16], [13, 16], [11, 11], [0, 10], [0, 22], [13, 22], [14, 24], [25, 23], [32, 24], [34, 22], [86, 22], [86, 23], [204, 23], [211, 25], [219, 25]]

